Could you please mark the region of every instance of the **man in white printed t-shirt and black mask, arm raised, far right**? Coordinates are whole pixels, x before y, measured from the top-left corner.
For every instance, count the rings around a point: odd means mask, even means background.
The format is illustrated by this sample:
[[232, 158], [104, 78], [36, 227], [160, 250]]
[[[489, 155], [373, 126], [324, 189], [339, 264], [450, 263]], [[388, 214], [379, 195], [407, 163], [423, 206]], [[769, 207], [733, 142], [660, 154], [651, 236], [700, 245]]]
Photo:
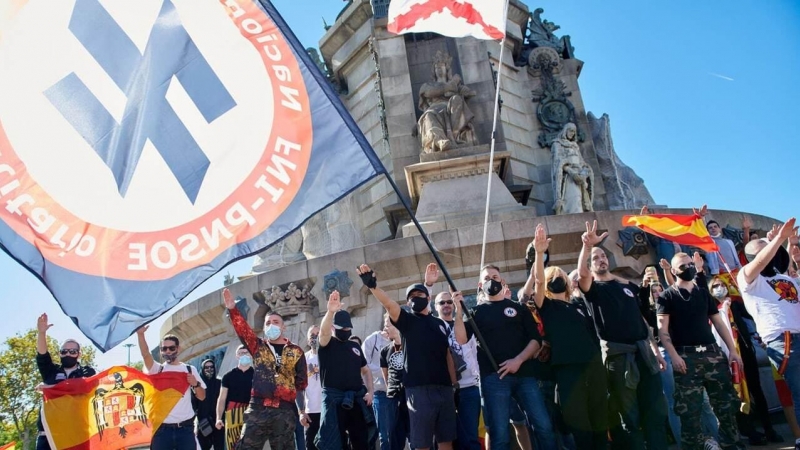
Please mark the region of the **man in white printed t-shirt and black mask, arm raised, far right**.
[[[798, 251], [795, 219], [784, 223], [772, 239], [750, 241], [744, 249], [749, 261], [739, 271], [737, 281], [747, 311], [756, 321], [758, 333], [767, 344], [767, 355], [778, 366], [794, 401], [794, 414], [800, 421], [800, 295], [797, 283], [784, 275], [789, 268], [789, 250]], [[795, 436], [800, 449], [800, 436]]]

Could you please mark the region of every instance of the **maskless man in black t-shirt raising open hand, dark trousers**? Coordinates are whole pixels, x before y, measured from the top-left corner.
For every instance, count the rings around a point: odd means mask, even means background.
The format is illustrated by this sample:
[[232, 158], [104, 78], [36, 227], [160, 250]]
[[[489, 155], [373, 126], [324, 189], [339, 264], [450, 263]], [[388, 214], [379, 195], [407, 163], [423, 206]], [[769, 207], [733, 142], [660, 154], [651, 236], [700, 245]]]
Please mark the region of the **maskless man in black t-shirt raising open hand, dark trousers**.
[[606, 253], [595, 247], [606, 236], [597, 235], [596, 220], [586, 222], [578, 284], [603, 348], [611, 438], [614, 448], [666, 450], [667, 402], [659, 373], [666, 363], [639, 309], [639, 288], [612, 275]]

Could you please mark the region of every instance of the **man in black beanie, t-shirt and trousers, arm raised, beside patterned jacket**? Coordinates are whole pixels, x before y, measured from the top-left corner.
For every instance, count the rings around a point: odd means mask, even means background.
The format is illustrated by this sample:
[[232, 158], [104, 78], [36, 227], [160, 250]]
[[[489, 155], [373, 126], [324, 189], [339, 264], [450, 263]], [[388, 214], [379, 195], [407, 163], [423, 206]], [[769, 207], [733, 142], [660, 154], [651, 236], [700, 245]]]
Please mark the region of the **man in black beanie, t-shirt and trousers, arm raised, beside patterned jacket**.
[[372, 372], [358, 343], [350, 340], [353, 323], [342, 310], [339, 292], [328, 299], [319, 326], [322, 413], [315, 444], [320, 450], [374, 448], [378, 430], [372, 411]]

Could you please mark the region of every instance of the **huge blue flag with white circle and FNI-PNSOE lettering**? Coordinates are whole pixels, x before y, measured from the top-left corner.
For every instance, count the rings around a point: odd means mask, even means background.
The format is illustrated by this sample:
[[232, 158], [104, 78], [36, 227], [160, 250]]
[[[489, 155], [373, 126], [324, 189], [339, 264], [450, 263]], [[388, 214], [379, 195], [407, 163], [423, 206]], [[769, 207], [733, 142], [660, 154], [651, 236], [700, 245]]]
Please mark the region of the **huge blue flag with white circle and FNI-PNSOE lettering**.
[[103, 350], [384, 173], [267, 1], [11, 3], [0, 245]]

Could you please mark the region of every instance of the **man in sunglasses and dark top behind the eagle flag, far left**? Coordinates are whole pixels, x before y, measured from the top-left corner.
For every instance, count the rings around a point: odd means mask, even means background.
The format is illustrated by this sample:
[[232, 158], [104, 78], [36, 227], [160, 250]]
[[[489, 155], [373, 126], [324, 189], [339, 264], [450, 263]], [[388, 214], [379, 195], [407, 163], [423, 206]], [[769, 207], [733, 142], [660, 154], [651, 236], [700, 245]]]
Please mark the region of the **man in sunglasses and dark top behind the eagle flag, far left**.
[[[61, 344], [61, 364], [53, 362], [50, 352], [47, 350], [47, 330], [53, 325], [47, 322], [47, 314], [39, 316], [36, 323], [36, 328], [39, 332], [36, 338], [36, 366], [39, 368], [39, 374], [42, 375], [42, 384], [45, 386], [52, 386], [60, 383], [68, 378], [88, 378], [95, 375], [94, 368], [90, 366], [81, 366], [81, 346], [78, 341], [74, 339], [67, 339]], [[64, 420], [69, 418], [64, 417]], [[50, 450], [50, 444], [47, 441], [47, 435], [42, 425], [42, 417], [36, 422], [39, 429], [39, 436], [36, 439], [36, 450]]]

